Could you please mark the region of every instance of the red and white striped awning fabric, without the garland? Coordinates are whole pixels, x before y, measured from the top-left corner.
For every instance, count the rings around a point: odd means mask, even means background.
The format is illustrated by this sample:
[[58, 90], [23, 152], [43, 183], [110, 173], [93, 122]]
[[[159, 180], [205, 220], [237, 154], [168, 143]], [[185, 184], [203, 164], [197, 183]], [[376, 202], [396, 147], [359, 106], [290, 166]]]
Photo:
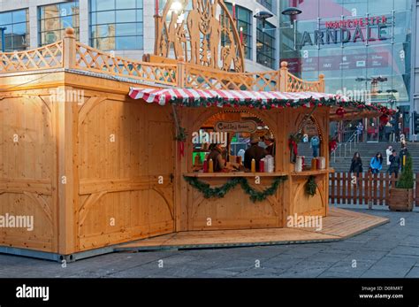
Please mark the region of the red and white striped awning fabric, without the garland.
[[148, 103], [156, 103], [165, 105], [171, 102], [194, 102], [203, 99], [219, 100], [225, 103], [237, 102], [260, 102], [267, 103], [270, 101], [295, 101], [299, 102], [305, 99], [320, 100], [339, 100], [341, 102], [347, 101], [347, 97], [337, 96], [332, 94], [315, 93], [315, 92], [263, 92], [263, 91], [248, 91], [248, 90], [224, 90], [224, 89], [192, 89], [192, 88], [130, 88], [129, 96], [133, 99], [143, 99]]

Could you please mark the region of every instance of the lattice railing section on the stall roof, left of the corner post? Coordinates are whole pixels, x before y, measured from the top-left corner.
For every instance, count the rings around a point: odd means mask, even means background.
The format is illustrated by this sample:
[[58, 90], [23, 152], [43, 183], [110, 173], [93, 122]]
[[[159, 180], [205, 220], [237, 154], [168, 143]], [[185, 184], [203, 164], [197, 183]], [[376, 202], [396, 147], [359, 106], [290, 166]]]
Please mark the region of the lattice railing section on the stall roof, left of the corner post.
[[35, 50], [0, 52], [0, 73], [63, 67], [63, 41]]

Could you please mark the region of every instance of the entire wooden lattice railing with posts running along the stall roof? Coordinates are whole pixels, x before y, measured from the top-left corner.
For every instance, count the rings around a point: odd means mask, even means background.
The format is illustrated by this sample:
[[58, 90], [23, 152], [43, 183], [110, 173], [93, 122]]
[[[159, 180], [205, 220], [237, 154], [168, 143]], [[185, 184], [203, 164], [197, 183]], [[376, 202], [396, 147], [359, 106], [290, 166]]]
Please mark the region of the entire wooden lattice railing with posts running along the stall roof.
[[67, 28], [62, 41], [35, 50], [0, 52], [0, 73], [51, 68], [76, 69], [147, 81], [179, 88], [236, 89], [283, 92], [324, 92], [324, 75], [318, 81], [303, 81], [288, 72], [286, 62], [278, 71], [232, 73], [184, 62], [152, 63], [130, 60], [76, 42]]

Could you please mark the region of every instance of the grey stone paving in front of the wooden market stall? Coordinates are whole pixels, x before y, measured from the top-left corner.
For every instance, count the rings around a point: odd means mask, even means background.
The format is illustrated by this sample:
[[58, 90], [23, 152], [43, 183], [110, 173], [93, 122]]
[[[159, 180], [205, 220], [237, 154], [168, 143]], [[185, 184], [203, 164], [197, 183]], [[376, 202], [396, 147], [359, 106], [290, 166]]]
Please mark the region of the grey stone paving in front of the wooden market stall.
[[118, 252], [66, 267], [0, 255], [0, 278], [418, 278], [419, 212], [353, 210], [389, 218], [390, 223], [341, 242]]

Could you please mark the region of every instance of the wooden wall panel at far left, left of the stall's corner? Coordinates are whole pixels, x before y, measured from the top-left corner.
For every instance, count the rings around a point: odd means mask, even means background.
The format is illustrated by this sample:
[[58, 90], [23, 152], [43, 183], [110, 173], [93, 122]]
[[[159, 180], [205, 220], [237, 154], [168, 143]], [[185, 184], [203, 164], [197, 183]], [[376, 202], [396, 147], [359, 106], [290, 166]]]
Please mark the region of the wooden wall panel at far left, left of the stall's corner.
[[32, 216], [34, 229], [0, 227], [0, 244], [57, 252], [56, 114], [42, 91], [0, 99], [0, 215]]

